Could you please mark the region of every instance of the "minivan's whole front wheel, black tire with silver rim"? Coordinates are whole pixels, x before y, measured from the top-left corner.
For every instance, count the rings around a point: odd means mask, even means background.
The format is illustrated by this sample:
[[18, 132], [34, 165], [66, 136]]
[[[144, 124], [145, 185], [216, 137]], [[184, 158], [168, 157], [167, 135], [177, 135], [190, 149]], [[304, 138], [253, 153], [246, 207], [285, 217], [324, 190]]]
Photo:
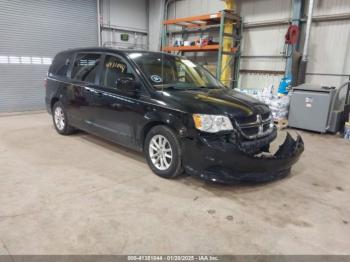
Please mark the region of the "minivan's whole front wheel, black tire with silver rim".
[[169, 127], [155, 126], [147, 133], [144, 154], [152, 171], [160, 177], [174, 178], [183, 173], [180, 142]]

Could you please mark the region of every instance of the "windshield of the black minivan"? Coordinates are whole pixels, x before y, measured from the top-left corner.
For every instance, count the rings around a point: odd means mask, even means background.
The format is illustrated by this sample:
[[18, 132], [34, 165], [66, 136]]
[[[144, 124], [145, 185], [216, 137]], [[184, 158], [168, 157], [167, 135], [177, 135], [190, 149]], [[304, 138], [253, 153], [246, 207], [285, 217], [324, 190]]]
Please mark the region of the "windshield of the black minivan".
[[206, 69], [184, 57], [162, 53], [130, 53], [129, 56], [158, 90], [223, 87]]

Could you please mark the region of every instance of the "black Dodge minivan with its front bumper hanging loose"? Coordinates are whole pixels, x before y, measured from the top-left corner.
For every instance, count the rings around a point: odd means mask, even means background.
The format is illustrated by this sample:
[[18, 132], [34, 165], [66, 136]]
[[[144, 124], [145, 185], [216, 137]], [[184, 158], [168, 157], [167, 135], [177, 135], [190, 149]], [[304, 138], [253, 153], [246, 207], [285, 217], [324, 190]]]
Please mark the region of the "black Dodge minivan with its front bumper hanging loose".
[[157, 175], [211, 182], [269, 181], [289, 174], [304, 144], [279, 149], [269, 107], [223, 86], [185, 57], [110, 48], [56, 55], [46, 106], [59, 134], [76, 129], [143, 151]]

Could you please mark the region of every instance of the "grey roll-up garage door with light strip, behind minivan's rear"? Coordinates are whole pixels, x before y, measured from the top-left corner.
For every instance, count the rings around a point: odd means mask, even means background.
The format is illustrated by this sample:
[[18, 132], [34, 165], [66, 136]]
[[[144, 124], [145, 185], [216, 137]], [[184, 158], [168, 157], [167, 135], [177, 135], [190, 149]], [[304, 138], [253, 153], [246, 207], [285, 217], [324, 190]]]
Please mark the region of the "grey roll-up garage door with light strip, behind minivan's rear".
[[0, 112], [44, 109], [54, 55], [97, 42], [96, 0], [0, 0]]

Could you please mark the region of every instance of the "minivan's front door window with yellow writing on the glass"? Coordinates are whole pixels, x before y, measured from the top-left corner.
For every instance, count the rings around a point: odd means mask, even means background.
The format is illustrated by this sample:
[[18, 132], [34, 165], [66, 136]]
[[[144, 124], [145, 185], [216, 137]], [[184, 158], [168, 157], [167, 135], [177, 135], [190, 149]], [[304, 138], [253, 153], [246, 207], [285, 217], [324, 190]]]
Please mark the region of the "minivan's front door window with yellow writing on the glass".
[[135, 78], [130, 65], [123, 59], [107, 55], [103, 65], [101, 84], [108, 87], [117, 87], [117, 80], [120, 77]]

